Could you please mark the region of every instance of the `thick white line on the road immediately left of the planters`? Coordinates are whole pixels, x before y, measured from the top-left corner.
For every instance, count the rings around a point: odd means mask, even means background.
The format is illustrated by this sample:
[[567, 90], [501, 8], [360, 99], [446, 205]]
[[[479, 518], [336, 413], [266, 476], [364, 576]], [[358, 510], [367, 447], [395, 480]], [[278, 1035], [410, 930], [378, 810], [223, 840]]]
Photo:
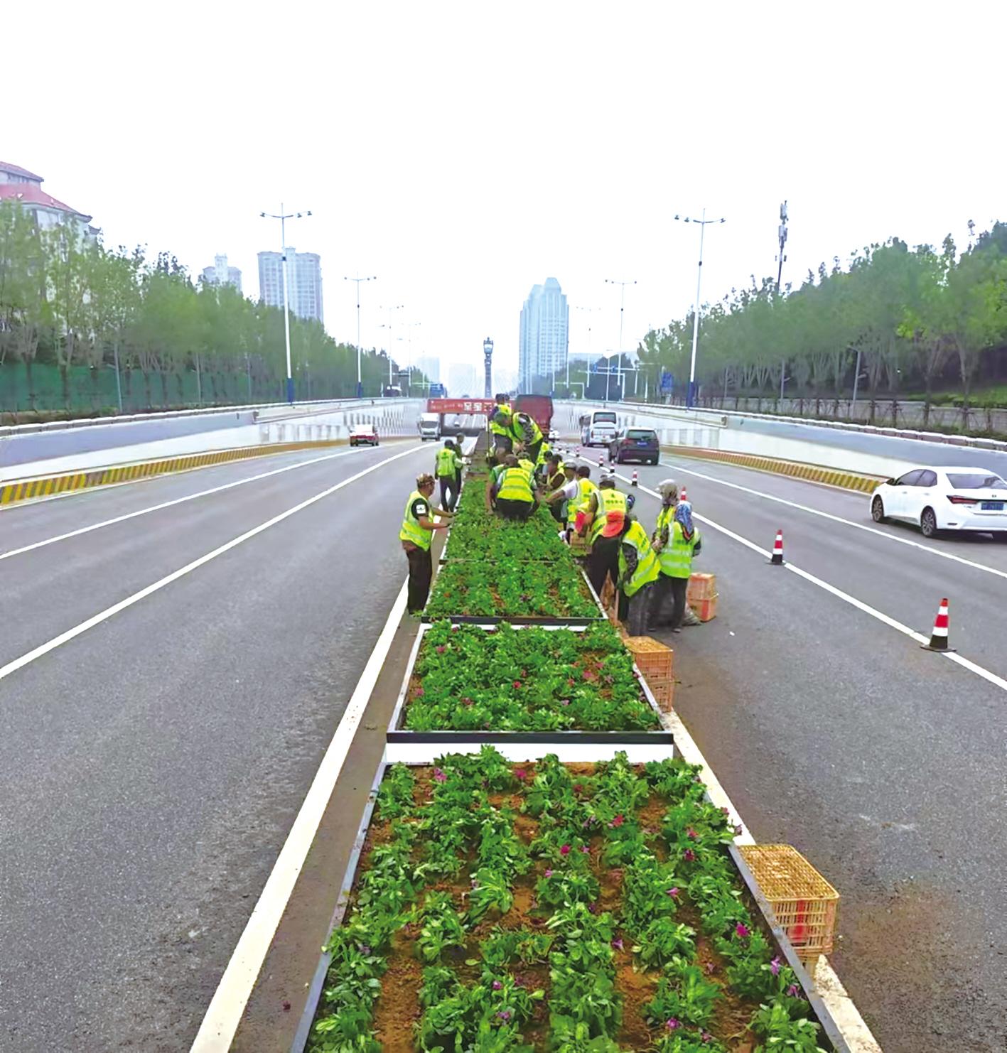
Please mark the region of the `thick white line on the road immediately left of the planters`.
[[283, 911], [287, 910], [294, 885], [318, 832], [321, 817], [329, 806], [360, 718], [371, 699], [381, 665], [388, 657], [395, 631], [406, 610], [408, 584], [408, 581], [402, 583], [381, 635], [378, 636], [363, 673], [360, 674], [360, 679], [347, 703], [308, 796], [297, 813], [294, 826], [262, 889], [262, 894], [220, 978], [220, 984], [193, 1041], [192, 1053], [225, 1053], [231, 1048], [244, 1007], [252, 994], [252, 988], [258, 979], [259, 970], [273, 942], [277, 926], [280, 923]]

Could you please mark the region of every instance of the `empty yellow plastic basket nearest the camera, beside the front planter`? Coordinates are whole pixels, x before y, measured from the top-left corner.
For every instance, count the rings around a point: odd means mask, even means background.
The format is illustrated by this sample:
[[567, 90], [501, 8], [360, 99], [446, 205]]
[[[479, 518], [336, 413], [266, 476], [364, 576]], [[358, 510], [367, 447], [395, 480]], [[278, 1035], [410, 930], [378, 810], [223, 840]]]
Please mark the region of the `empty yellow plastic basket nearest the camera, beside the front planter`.
[[797, 956], [814, 962], [832, 950], [840, 894], [790, 845], [739, 845]]

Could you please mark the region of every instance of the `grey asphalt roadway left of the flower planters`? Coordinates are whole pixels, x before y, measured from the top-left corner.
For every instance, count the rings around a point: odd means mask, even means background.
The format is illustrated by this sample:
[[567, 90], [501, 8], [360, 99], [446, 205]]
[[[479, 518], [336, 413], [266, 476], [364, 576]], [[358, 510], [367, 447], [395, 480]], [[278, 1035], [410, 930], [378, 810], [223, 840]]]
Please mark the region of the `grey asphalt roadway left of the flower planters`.
[[189, 1048], [401, 587], [422, 449], [279, 455], [0, 513], [0, 1049]]

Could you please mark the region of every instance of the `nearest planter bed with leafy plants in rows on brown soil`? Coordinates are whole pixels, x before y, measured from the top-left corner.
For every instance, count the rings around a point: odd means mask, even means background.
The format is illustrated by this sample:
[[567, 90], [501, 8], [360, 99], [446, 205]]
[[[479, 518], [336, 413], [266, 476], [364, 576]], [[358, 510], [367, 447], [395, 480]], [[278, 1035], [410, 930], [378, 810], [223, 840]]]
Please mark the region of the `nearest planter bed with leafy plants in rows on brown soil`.
[[294, 1050], [848, 1053], [698, 769], [380, 766]]

